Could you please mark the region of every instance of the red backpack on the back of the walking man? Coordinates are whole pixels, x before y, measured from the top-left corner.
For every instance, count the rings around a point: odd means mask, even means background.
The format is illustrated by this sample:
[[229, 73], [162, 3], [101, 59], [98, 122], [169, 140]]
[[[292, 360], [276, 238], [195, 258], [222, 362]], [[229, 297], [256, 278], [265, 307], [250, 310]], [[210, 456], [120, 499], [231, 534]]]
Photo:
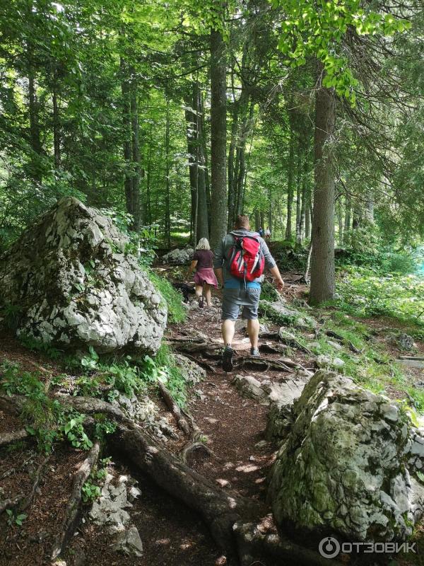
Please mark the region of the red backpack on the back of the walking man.
[[235, 236], [230, 255], [232, 277], [252, 282], [264, 272], [265, 258], [261, 253], [259, 236]]

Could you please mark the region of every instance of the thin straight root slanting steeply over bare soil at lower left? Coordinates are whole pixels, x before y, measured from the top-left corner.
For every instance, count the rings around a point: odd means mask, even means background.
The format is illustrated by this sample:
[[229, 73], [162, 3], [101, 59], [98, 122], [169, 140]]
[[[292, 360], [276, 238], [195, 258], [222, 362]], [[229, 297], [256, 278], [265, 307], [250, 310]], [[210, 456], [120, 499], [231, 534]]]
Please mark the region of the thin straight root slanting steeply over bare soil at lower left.
[[56, 537], [53, 544], [52, 560], [55, 560], [61, 554], [61, 552], [63, 552], [64, 548], [66, 547], [66, 543], [69, 541], [69, 538], [71, 538], [73, 532], [75, 531], [79, 518], [78, 516], [81, 511], [81, 490], [84, 483], [86, 483], [86, 481], [88, 480], [95, 464], [97, 463], [99, 452], [100, 444], [98, 442], [95, 442], [93, 448], [88, 452], [87, 458], [83, 461], [81, 466], [79, 466], [78, 471], [73, 478], [72, 493], [66, 507], [65, 518], [63, 523], [61, 524], [61, 531]]

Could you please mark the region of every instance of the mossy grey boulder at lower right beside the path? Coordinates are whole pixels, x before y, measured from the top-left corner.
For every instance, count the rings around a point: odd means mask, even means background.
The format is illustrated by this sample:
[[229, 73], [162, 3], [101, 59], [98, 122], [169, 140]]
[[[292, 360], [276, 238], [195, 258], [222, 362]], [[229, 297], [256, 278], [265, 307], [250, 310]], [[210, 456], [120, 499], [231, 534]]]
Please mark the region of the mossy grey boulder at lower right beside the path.
[[404, 540], [423, 514], [423, 458], [424, 437], [399, 405], [319, 370], [273, 465], [276, 520], [348, 541]]

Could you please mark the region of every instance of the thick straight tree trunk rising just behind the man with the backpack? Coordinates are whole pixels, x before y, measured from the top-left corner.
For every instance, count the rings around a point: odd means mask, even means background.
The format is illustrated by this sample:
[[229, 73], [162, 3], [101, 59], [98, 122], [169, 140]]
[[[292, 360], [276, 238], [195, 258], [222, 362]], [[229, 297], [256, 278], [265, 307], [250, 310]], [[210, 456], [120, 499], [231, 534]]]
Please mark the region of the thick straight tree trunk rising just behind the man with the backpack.
[[211, 248], [227, 230], [226, 180], [226, 65], [225, 43], [218, 30], [211, 30]]

